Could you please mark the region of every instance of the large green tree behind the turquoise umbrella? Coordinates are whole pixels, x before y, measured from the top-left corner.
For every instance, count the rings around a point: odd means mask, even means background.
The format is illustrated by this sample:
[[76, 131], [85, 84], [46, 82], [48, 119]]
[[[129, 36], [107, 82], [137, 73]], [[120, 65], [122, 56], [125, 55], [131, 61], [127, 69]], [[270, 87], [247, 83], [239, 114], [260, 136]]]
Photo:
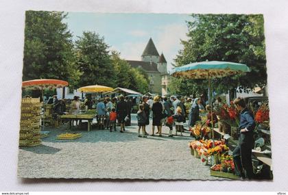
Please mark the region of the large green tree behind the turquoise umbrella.
[[[263, 15], [237, 14], [192, 14], [187, 22], [188, 40], [182, 40], [184, 48], [178, 51], [176, 66], [191, 62], [228, 61], [247, 64], [250, 73], [213, 80], [217, 92], [226, 92], [240, 86], [248, 90], [267, 83], [265, 37]], [[180, 79], [178, 86], [185, 82], [194, 85], [193, 90], [204, 90], [205, 80]]]

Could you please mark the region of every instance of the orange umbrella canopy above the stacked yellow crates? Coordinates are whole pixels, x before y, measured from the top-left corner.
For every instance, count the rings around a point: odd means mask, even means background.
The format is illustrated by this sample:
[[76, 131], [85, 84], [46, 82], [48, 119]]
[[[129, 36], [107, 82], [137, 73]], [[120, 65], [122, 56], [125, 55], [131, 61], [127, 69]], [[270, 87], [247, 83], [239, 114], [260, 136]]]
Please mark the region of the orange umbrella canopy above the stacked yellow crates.
[[22, 88], [28, 90], [43, 90], [43, 89], [53, 89], [53, 88], [63, 88], [68, 86], [67, 81], [62, 81], [58, 79], [34, 79], [30, 81], [23, 81]]

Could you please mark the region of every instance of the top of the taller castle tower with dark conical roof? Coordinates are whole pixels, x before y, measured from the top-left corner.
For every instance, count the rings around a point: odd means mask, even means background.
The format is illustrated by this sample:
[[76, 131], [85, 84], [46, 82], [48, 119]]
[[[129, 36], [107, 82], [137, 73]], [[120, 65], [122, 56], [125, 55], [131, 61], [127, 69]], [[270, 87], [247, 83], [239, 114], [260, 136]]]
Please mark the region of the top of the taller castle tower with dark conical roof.
[[154, 62], [155, 64], [158, 64], [159, 53], [155, 47], [152, 38], [149, 39], [143, 51], [143, 54], [141, 55], [141, 60], [143, 62]]

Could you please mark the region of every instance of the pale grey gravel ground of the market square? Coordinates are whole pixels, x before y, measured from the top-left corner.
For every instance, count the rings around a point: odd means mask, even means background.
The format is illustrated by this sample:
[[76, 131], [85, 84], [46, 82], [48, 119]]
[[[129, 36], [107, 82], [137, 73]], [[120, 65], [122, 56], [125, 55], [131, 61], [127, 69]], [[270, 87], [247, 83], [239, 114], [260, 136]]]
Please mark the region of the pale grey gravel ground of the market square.
[[[134, 118], [134, 117], [133, 117]], [[43, 145], [19, 149], [19, 177], [97, 179], [220, 179], [208, 166], [191, 156], [189, 133], [183, 137], [137, 137], [136, 120], [125, 133], [80, 129], [82, 138], [56, 140], [66, 126], [51, 131]], [[147, 132], [152, 132], [151, 125]]]

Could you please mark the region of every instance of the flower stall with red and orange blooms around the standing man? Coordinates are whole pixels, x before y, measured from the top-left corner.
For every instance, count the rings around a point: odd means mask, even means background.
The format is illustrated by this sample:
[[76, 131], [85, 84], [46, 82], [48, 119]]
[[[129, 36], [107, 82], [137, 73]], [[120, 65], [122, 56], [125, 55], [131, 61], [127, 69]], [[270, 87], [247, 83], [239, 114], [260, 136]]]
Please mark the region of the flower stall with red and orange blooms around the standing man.
[[[217, 108], [217, 114], [221, 115], [231, 127], [237, 129], [239, 125], [239, 113], [236, 111], [233, 103], [222, 105]], [[252, 166], [255, 179], [273, 179], [271, 139], [269, 131], [269, 106], [268, 102], [261, 103], [258, 109], [252, 109], [256, 127], [254, 129], [254, 148], [252, 149]], [[238, 144], [239, 132], [232, 133], [232, 136], [214, 128], [215, 147], [212, 146], [212, 140], [205, 140], [206, 133], [211, 128], [197, 124], [191, 129], [196, 140], [189, 143], [191, 154], [200, 158], [202, 163], [211, 166], [211, 175], [215, 177], [225, 177], [237, 179], [234, 175], [234, 163], [229, 154]], [[218, 135], [218, 136], [217, 136]], [[217, 138], [219, 140], [217, 140]], [[225, 138], [225, 139], [224, 139]]]

